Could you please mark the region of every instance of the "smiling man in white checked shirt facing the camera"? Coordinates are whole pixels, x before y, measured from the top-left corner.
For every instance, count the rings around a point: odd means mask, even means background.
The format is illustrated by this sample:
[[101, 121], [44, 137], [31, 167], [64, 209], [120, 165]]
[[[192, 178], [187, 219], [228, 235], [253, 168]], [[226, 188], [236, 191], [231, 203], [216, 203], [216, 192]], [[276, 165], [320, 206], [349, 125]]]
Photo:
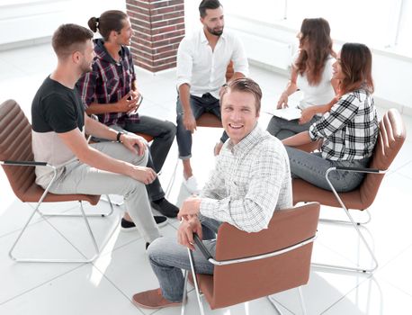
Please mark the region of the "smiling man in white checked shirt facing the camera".
[[[291, 207], [286, 150], [279, 139], [257, 126], [261, 97], [259, 85], [248, 78], [230, 81], [222, 91], [222, 124], [229, 139], [201, 195], [184, 201], [179, 211], [182, 223], [177, 241], [158, 238], [148, 247], [150, 265], [160, 288], [135, 294], [133, 302], [139, 307], [157, 309], [181, 304], [181, 269], [190, 269], [185, 247], [193, 248], [193, 232], [210, 239], [222, 222], [247, 232], [259, 231], [267, 228], [273, 211]], [[202, 214], [203, 229], [198, 214]], [[210, 253], [215, 252], [215, 239], [204, 244]], [[197, 272], [213, 274], [213, 265], [199, 250], [193, 252], [193, 257]]]

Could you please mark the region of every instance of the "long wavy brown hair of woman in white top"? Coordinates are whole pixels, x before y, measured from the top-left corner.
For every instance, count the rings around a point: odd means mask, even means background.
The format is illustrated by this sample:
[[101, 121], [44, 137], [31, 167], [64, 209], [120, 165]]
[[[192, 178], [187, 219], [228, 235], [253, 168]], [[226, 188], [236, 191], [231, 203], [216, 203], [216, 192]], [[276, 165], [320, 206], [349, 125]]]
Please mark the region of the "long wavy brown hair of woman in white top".
[[322, 18], [304, 19], [300, 26], [300, 47], [308, 42], [307, 49], [300, 49], [296, 67], [300, 76], [306, 74], [309, 85], [318, 85], [322, 79], [327, 58], [336, 56], [332, 49], [330, 27]]

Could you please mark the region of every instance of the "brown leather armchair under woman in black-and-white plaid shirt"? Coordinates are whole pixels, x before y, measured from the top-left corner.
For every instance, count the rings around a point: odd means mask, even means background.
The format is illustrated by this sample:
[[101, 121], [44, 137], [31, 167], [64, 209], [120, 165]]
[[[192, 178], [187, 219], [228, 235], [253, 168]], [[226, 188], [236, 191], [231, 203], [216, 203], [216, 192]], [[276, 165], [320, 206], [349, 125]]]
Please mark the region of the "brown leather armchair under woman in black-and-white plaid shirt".
[[[353, 191], [348, 193], [336, 193], [335, 188], [330, 182], [329, 185], [331, 191], [318, 188], [317, 186], [309, 184], [301, 179], [294, 179], [292, 181], [294, 204], [297, 202], [319, 202], [320, 204], [343, 209], [349, 220], [344, 222], [353, 225], [360, 240], [371, 254], [373, 261], [373, 266], [369, 268], [333, 266], [326, 264], [314, 264], [315, 266], [371, 273], [378, 267], [378, 261], [373, 254], [372, 248], [369, 246], [366, 239], [363, 237], [361, 230], [359, 229], [359, 225], [362, 223], [355, 222], [349, 212], [349, 209], [367, 211], [368, 207], [371, 206], [372, 202], [375, 200], [376, 194], [381, 186], [383, 176], [388, 171], [390, 164], [397, 156], [399, 149], [405, 141], [405, 124], [396, 109], [390, 109], [383, 115], [379, 129], [378, 141], [373, 151], [371, 164], [368, 168], [331, 167], [327, 171], [327, 175], [330, 172], [339, 171], [367, 173], [363, 183]], [[369, 212], [367, 213], [369, 214]]]

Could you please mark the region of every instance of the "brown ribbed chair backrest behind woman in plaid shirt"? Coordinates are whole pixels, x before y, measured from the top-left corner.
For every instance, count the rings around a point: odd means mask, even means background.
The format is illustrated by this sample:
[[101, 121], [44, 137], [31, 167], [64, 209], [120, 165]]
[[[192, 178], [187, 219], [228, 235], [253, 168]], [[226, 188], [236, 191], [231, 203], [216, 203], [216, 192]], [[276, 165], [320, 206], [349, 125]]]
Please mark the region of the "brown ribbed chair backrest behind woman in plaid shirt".
[[[402, 148], [406, 136], [405, 124], [400, 113], [396, 109], [390, 109], [381, 119], [378, 141], [373, 150], [370, 167], [381, 170], [389, 169], [399, 149]], [[372, 204], [381, 186], [382, 179], [383, 175], [367, 174], [365, 176], [363, 184], [359, 188], [363, 209]]]

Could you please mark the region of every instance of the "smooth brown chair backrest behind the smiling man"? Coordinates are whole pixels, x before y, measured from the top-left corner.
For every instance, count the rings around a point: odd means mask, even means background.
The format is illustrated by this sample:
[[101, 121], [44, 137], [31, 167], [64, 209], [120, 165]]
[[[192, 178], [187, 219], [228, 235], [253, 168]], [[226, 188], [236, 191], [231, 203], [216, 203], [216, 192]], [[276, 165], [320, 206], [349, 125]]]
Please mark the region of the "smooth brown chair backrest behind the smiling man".
[[[218, 232], [216, 259], [252, 257], [290, 247], [316, 234], [318, 217], [319, 204], [311, 202], [275, 211], [268, 229], [257, 233], [224, 223]], [[210, 307], [226, 307], [307, 284], [312, 247], [309, 243], [276, 257], [215, 266]]]

